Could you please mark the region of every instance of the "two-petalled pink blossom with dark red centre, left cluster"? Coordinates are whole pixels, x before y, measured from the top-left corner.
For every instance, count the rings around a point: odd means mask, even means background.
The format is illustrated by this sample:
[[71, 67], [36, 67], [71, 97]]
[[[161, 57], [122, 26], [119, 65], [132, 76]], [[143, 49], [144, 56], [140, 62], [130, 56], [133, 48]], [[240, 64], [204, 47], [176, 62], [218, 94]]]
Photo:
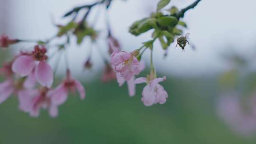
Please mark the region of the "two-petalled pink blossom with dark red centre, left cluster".
[[46, 63], [46, 48], [36, 45], [31, 53], [21, 53], [12, 64], [12, 71], [24, 77], [35, 72], [36, 80], [42, 85], [50, 88], [53, 84], [53, 70]]

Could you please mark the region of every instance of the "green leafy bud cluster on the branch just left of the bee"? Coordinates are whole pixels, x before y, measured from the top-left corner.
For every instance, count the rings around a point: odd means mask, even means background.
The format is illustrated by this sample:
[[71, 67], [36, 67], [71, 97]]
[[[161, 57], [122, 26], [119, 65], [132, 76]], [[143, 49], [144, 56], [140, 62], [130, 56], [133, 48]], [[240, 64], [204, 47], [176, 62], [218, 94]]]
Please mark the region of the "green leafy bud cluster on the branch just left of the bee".
[[187, 27], [186, 23], [177, 18], [179, 9], [171, 7], [166, 9], [168, 14], [164, 14], [161, 10], [168, 5], [170, 0], [160, 0], [157, 4], [157, 10], [152, 13], [149, 18], [137, 20], [129, 27], [132, 35], [139, 36], [153, 29], [153, 38], [157, 38], [164, 50], [166, 50], [173, 42], [175, 36], [180, 36], [183, 31], [178, 26]]

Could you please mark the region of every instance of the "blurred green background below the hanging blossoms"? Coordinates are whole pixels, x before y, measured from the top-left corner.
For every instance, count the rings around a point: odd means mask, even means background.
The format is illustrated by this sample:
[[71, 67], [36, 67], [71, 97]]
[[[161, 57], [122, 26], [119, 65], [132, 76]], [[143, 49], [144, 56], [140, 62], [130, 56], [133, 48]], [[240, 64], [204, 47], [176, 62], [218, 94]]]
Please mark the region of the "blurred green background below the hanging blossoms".
[[167, 102], [152, 107], [140, 100], [143, 84], [131, 98], [115, 81], [85, 83], [87, 98], [70, 95], [54, 119], [29, 117], [11, 97], [0, 107], [0, 144], [255, 144], [217, 117], [214, 77], [167, 80]]

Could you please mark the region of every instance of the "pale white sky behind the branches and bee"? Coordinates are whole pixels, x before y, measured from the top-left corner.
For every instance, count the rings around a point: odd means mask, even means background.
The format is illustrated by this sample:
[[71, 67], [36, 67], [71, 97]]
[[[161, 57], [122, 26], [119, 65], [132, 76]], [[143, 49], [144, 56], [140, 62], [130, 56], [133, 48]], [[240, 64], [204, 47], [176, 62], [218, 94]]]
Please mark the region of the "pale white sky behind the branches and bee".
[[[94, 0], [0, 0], [8, 3], [9, 11], [5, 18], [5, 33], [18, 38], [44, 39], [56, 33], [56, 27], [51, 23], [51, 16], [56, 22], [65, 22], [61, 16], [68, 10], [81, 4]], [[150, 39], [150, 33], [135, 37], [128, 33], [128, 27], [137, 19], [146, 17], [155, 10], [158, 0], [114, 0], [110, 8], [110, 22], [113, 34], [116, 36], [126, 51], [131, 51], [141, 46], [141, 43]], [[172, 0], [183, 8], [194, 0]], [[192, 51], [186, 47], [186, 52], [174, 49], [171, 45], [168, 57], [163, 59], [164, 51], [155, 45], [154, 61], [158, 71], [175, 75], [207, 75], [219, 72], [227, 67], [219, 58], [219, 53], [224, 49], [231, 51], [230, 45], [235, 46], [239, 52], [250, 53], [256, 47], [256, 0], [202, 0], [196, 9], [186, 13], [183, 19], [187, 22], [190, 32], [190, 42], [196, 45], [197, 50]], [[99, 12], [94, 9], [92, 16]], [[93, 19], [93, 18], [91, 18]], [[2, 25], [2, 23], [0, 23]], [[104, 29], [104, 13], [96, 26]], [[101, 42], [101, 49], [106, 49]], [[90, 47], [84, 43], [77, 48], [72, 45], [69, 50], [72, 54], [71, 67], [77, 76], [84, 75], [82, 63]], [[94, 51], [93, 61], [95, 67], [92, 72], [97, 72], [103, 66], [100, 57]], [[148, 55], [143, 57], [149, 61]], [[97, 64], [97, 65], [96, 65]]]

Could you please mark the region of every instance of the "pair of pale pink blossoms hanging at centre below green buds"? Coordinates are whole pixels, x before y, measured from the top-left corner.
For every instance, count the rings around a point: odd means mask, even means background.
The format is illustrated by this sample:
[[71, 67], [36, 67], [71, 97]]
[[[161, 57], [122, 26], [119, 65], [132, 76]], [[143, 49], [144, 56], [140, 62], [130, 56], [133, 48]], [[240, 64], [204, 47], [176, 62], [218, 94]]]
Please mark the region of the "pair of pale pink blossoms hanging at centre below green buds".
[[127, 53], [123, 51], [114, 51], [111, 54], [111, 64], [116, 72], [119, 86], [122, 86], [125, 81], [128, 83], [129, 95], [135, 95], [135, 85], [137, 83], [146, 83], [146, 87], [142, 92], [142, 101], [145, 106], [152, 106], [153, 104], [164, 104], [168, 98], [167, 92], [163, 86], [158, 84], [165, 81], [166, 78], [156, 78], [154, 75], [148, 75], [147, 78], [135, 78], [143, 69], [144, 64], [140, 63], [136, 58], [136, 52]]

